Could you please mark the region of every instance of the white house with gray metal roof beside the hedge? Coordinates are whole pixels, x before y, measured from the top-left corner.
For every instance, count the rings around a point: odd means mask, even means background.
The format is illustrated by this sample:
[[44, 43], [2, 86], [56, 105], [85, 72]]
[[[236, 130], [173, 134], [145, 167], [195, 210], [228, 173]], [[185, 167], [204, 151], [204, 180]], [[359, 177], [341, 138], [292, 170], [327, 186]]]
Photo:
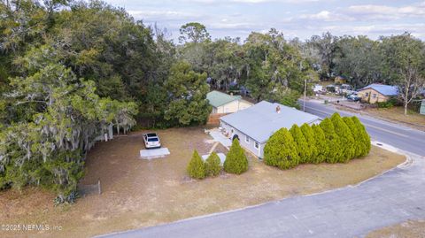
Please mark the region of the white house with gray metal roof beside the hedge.
[[262, 101], [243, 111], [220, 118], [220, 126], [228, 138], [240, 140], [241, 146], [262, 158], [268, 138], [282, 127], [320, 123], [315, 115], [282, 104]]

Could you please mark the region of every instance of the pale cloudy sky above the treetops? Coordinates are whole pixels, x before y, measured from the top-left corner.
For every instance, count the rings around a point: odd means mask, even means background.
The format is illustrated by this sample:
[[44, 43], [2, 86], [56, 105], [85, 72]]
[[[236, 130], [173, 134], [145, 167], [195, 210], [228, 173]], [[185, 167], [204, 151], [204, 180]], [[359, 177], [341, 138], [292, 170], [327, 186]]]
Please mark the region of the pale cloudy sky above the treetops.
[[425, 1], [353, 0], [106, 0], [125, 8], [145, 25], [166, 28], [179, 37], [188, 22], [205, 25], [213, 39], [244, 40], [252, 31], [282, 31], [287, 39], [312, 35], [399, 35], [410, 32], [425, 40]]

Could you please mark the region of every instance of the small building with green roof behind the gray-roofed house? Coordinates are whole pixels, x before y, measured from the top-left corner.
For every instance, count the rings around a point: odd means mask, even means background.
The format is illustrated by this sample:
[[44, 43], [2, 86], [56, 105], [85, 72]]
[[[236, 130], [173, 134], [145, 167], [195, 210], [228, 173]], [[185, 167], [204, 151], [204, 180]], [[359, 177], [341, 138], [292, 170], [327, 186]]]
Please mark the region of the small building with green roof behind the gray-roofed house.
[[249, 108], [252, 104], [242, 99], [242, 96], [232, 96], [219, 91], [212, 91], [206, 95], [206, 99], [213, 106], [215, 113], [232, 113]]

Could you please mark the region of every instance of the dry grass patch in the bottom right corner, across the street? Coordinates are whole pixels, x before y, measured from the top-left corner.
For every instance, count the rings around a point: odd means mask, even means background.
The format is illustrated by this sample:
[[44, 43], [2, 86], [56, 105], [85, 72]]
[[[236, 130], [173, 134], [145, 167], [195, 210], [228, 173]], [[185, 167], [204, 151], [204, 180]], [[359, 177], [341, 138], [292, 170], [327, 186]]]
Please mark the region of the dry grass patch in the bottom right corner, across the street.
[[393, 226], [383, 227], [366, 236], [367, 238], [423, 238], [425, 237], [425, 220], [407, 220]]

